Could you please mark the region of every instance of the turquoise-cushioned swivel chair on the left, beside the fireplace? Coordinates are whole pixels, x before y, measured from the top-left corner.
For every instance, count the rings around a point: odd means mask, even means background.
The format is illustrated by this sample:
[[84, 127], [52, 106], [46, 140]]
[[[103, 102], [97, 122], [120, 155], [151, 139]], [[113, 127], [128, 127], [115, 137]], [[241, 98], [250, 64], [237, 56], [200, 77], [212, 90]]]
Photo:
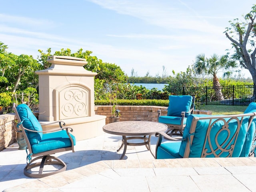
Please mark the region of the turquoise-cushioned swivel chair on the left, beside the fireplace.
[[[26, 104], [16, 106], [14, 103], [12, 109], [16, 114], [18, 126], [22, 130], [27, 144], [27, 161], [29, 163], [24, 168], [24, 174], [28, 177], [42, 178], [65, 171], [66, 164], [61, 159], [50, 155], [68, 150], [74, 152], [76, 138], [68, 132], [68, 130], [72, 132], [72, 128], [62, 127], [61, 123], [64, 122], [59, 121], [54, 123], [59, 123], [60, 128], [47, 131], [50, 133], [44, 133], [46, 131], [42, 130], [42, 126]], [[36, 158], [32, 159], [32, 157]], [[37, 160], [40, 159], [42, 159], [41, 162], [38, 162]], [[54, 168], [54, 170], [44, 172], [45, 165], [60, 165], [62, 168]], [[31, 170], [36, 167], [40, 167], [38, 172]]]

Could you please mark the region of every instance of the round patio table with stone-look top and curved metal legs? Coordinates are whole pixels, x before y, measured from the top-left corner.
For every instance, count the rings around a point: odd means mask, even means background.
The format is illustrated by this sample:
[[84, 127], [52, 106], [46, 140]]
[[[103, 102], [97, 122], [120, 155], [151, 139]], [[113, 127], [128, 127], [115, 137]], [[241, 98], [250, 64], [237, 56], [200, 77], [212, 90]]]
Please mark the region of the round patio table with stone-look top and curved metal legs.
[[[146, 148], [151, 152], [155, 157], [152, 149], [150, 147], [150, 138], [156, 132], [166, 131], [167, 125], [158, 122], [151, 121], [120, 121], [103, 126], [103, 131], [109, 134], [121, 135], [122, 136], [122, 145], [117, 151], [120, 151], [124, 146], [124, 152], [120, 159], [124, 158], [126, 153], [127, 146], [142, 146], [145, 145]], [[129, 136], [129, 137], [127, 137]], [[148, 136], [148, 137], [146, 137]], [[143, 142], [127, 142], [127, 140], [141, 139]]]

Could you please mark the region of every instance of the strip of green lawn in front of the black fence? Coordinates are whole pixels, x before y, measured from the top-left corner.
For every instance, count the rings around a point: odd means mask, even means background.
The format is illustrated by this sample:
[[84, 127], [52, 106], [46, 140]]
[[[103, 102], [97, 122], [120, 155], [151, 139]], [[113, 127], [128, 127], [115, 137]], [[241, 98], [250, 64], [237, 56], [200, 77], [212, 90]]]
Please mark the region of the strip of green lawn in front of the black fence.
[[213, 115], [232, 115], [244, 113], [247, 106], [227, 106], [227, 105], [204, 105], [200, 110], [210, 110]]

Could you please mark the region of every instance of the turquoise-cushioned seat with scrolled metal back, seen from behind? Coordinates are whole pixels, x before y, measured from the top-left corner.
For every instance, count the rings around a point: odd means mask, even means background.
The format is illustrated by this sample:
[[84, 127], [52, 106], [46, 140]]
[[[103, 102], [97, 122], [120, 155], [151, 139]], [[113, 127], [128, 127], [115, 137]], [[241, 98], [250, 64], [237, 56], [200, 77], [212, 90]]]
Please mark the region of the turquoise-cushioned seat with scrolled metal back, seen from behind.
[[[155, 158], [239, 157], [254, 116], [256, 112], [228, 116], [192, 114], [181, 140], [164, 132], [156, 133], [159, 138]], [[175, 142], [162, 142], [163, 137]]]

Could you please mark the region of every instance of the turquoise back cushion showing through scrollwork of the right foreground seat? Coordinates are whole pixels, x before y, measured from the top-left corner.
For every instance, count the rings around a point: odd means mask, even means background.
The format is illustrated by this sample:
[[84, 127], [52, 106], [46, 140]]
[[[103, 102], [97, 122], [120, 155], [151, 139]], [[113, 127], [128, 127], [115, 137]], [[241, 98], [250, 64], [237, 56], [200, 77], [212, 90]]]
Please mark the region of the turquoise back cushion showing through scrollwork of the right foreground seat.
[[[192, 123], [192, 119], [194, 117], [202, 117], [202, 116], [208, 116], [208, 115], [204, 115], [204, 114], [199, 114], [199, 115], [190, 115], [187, 118], [187, 123], [186, 123], [186, 127], [184, 128], [184, 132], [183, 132], [183, 138], [185, 140], [182, 140], [181, 145], [180, 145], [180, 150], [179, 150], [179, 154], [180, 156], [184, 157], [184, 152], [185, 152], [185, 148], [186, 148], [186, 144], [187, 142], [191, 142], [189, 140], [189, 136], [190, 136], [190, 126]], [[213, 121], [213, 120], [212, 120]], [[226, 121], [228, 121], [228, 119], [226, 119]], [[194, 132], [194, 139], [192, 141], [192, 143], [190, 143], [190, 154], [189, 157], [201, 157], [202, 154], [202, 150], [204, 147], [204, 141], [205, 141], [205, 137], [206, 137], [206, 132], [207, 132], [207, 128], [208, 128], [208, 124], [210, 123], [209, 119], [206, 120], [199, 120], [196, 124], [196, 130]], [[219, 144], [222, 144], [225, 140], [227, 140], [227, 142], [224, 142], [222, 148], [227, 148], [229, 149], [230, 146], [232, 146], [234, 144], [234, 139], [232, 139], [232, 135], [234, 135], [236, 128], [237, 128], [237, 122], [236, 120], [231, 120], [229, 122], [229, 126], [228, 126], [228, 130], [230, 131], [230, 135], [228, 134], [227, 130], [223, 130], [222, 127], [224, 125], [223, 121], [217, 121], [211, 129], [210, 132], [210, 142], [209, 140], [206, 141], [206, 146], [205, 148], [208, 149], [206, 152], [210, 153], [210, 147], [212, 147], [214, 150], [217, 148], [217, 144], [215, 142], [215, 136], [218, 135], [217, 137], [217, 141]], [[239, 157], [241, 151], [242, 151], [242, 147], [245, 141], [245, 136], [246, 136], [246, 131], [247, 131], [247, 126], [248, 126], [248, 118], [244, 118], [242, 126], [240, 128], [240, 131], [238, 133], [238, 138], [236, 141], [236, 146], [234, 147], [233, 150], [233, 157]], [[220, 131], [222, 130], [222, 131]], [[227, 144], [228, 142], [230, 142], [230, 144]], [[226, 157], [228, 156], [228, 152], [221, 152], [220, 150], [216, 150], [216, 154], [220, 155], [220, 157]], [[206, 157], [214, 157], [214, 154], [208, 154], [206, 155]]]

